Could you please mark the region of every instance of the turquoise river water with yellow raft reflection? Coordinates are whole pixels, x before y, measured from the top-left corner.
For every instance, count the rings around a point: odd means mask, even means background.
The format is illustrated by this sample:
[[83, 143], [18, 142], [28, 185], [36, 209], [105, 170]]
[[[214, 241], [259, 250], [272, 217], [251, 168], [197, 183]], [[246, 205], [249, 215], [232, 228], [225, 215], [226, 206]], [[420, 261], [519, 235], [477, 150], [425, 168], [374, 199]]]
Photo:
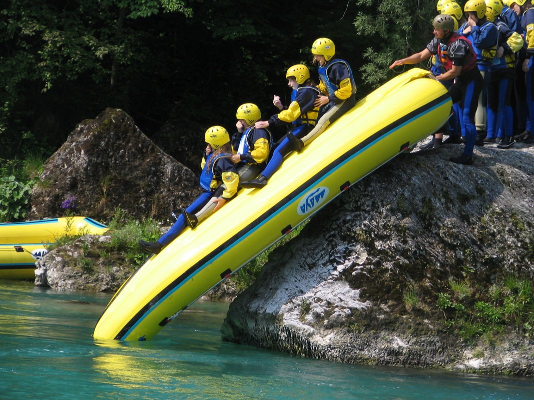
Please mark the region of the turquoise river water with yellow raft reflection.
[[221, 340], [199, 301], [152, 341], [96, 341], [110, 294], [0, 282], [0, 399], [534, 399], [534, 378], [359, 366]]

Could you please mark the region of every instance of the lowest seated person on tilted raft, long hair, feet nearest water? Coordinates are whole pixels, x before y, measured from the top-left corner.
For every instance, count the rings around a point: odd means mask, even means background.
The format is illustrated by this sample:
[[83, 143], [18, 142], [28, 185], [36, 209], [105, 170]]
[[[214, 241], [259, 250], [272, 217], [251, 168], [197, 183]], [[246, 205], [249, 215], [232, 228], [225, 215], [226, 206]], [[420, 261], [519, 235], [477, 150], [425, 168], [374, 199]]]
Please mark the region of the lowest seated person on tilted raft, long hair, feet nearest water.
[[232, 162], [230, 135], [222, 126], [212, 126], [206, 131], [205, 140], [208, 145], [201, 164], [202, 194], [185, 210], [180, 210], [174, 225], [158, 241], [139, 241], [139, 245], [146, 251], [158, 254], [187, 226], [194, 228], [237, 194], [239, 175]]

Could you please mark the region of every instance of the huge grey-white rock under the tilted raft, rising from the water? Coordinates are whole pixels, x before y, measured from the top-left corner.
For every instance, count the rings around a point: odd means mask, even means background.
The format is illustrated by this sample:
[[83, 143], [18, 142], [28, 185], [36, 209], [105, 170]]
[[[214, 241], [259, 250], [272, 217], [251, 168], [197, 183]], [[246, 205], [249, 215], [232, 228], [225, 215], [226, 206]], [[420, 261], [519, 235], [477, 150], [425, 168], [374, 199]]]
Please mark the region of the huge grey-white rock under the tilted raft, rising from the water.
[[450, 278], [483, 291], [507, 272], [534, 276], [534, 148], [448, 161], [460, 151], [400, 155], [325, 207], [232, 302], [223, 339], [349, 363], [534, 373], [522, 333], [479, 346], [444, 332], [437, 298]]

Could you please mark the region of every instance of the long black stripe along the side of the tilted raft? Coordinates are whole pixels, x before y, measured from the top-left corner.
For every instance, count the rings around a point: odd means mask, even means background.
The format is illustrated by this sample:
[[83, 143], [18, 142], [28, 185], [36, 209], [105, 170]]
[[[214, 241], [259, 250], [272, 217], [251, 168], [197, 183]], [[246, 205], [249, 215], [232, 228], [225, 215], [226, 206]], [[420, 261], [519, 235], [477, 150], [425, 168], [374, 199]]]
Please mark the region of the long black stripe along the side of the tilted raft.
[[[139, 319], [142, 318], [143, 315], [145, 315], [148, 310], [150, 310], [153, 306], [155, 306], [163, 297], [165, 297], [169, 292], [171, 292], [176, 286], [178, 286], [180, 283], [185, 281], [185, 279], [187, 279], [191, 274], [193, 274], [201, 266], [205, 265], [208, 260], [214, 258], [215, 255], [217, 255], [218, 253], [221, 253], [222, 250], [224, 250], [229, 245], [238, 241], [241, 237], [246, 236], [250, 230], [254, 229], [258, 225], [260, 225], [260, 223], [263, 222], [265, 219], [268, 219], [272, 214], [276, 213], [278, 210], [283, 208], [289, 201], [291, 201], [297, 195], [300, 195], [303, 190], [307, 189], [310, 186], [310, 182], [315, 182], [320, 177], [323, 177], [323, 175], [325, 175], [328, 171], [331, 171], [336, 166], [342, 164], [348, 158], [355, 155], [360, 150], [370, 145], [370, 143], [382, 137], [384, 134], [392, 130], [395, 130], [396, 127], [403, 125], [404, 123], [406, 123], [407, 121], [410, 121], [410, 119], [418, 115], [425, 114], [427, 110], [434, 108], [435, 106], [439, 105], [439, 103], [442, 103], [443, 101], [446, 101], [449, 98], [450, 98], [449, 94], [443, 94], [437, 99], [429, 103], [426, 103], [424, 106], [418, 108], [417, 110], [414, 110], [411, 113], [406, 114], [404, 117], [397, 119], [397, 121], [391, 123], [390, 125], [383, 127], [380, 131], [377, 131], [376, 133], [371, 135], [366, 140], [358, 143], [357, 146], [347, 151], [347, 153], [345, 153], [343, 156], [333, 160], [331, 164], [328, 164], [328, 166], [326, 166], [323, 170], [319, 171], [318, 173], [313, 175], [313, 177], [309, 178], [306, 182], [302, 183], [301, 186], [293, 190], [292, 193], [290, 193], [287, 197], [281, 199], [268, 212], [264, 213], [263, 215], [258, 217], [256, 220], [254, 220], [252, 223], [250, 223], [247, 227], [245, 227], [244, 229], [240, 230], [238, 233], [236, 233], [235, 235], [227, 239], [227, 241], [224, 242], [221, 246], [217, 247], [217, 249], [215, 249], [213, 252], [207, 254], [205, 257], [203, 257], [201, 260], [199, 260], [197, 263], [195, 263], [193, 266], [187, 269], [187, 271], [185, 271], [184, 274], [176, 278], [165, 289], [163, 289], [160, 293], [158, 293], [151, 301], [146, 303], [146, 305], [142, 309], [140, 309], [137, 312], [137, 314], [133, 316], [126, 325], [122, 327], [119, 333], [117, 333], [117, 335], [115, 336], [115, 339], [121, 340], [128, 333], [131, 327], [135, 325], [137, 321], [139, 321]], [[356, 182], [353, 182], [353, 183], [356, 183]]]

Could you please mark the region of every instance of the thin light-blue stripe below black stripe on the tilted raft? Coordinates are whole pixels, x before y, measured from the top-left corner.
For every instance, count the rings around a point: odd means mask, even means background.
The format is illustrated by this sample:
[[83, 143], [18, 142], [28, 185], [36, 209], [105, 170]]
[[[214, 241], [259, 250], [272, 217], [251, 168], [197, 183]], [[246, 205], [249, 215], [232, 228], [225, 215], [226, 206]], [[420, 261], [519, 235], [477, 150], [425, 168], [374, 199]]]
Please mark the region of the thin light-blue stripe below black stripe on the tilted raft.
[[[373, 146], [375, 143], [381, 141], [382, 139], [388, 137], [390, 134], [398, 131], [400, 128], [402, 128], [403, 126], [407, 125], [407, 124], [410, 124], [411, 122], [413, 122], [415, 119], [418, 119], [420, 118], [421, 116], [425, 115], [425, 114], [428, 114], [430, 113], [431, 111], [435, 110], [436, 108], [439, 108], [439, 107], [443, 107], [446, 103], [450, 102], [450, 98], [447, 96], [445, 100], [437, 103], [435, 106], [433, 107], [430, 107], [428, 108], [427, 110], [425, 110], [425, 112], [421, 113], [421, 114], [417, 114], [415, 115], [414, 117], [410, 118], [410, 119], [407, 119], [405, 122], [397, 125], [395, 127], [395, 129], [392, 129], [388, 132], [384, 132], [380, 137], [376, 138], [375, 140], [371, 141], [370, 143], [368, 143], [368, 145], [362, 147], [362, 149], [356, 151], [352, 156], [348, 157], [347, 159], [345, 159], [345, 161], [343, 161], [342, 163], [338, 164], [337, 166], [333, 167], [331, 170], [329, 170], [328, 172], [326, 172], [325, 174], [321, 175], [319, 179], [313, 181], [313, 183], [311, 185], [309, 185], [307, 188], [303, 189], [301, 191], [301, 194], [303, 193], [306, 193], [306, 191], [308, 191], [311, 187], [313, 186], [316, 186], [317, 185], [317, 182], [320, 181], [320, 180], [323, 180], [325, 177], [328, 177], [328, 175], [331, 175], [332, 173], [334, 173], [336, 170], [339, 170], [344, 164], [347, 164], [349, 161], [351, 161], [352, 159], [354, 159], [357, 155], [361, 154], [363, 151], [367, 150], [368, 148], [370, 148], [371, 146]], [[387, 160], [389, 161], [389, 160]], [[387, 162], [386, 161], [386, 162]], [[354, 182], [356, 183], [356, 182]], [[341, 194], [341, 193], [340, 193]], [[337, 195], [339, 196], [339, 194]], [[320, 207], [320, 209], [322, 209], [326, 204], [328, 204], [329, 202], [331, 202], [334, 198], [336, 198], [337, 196], [334, 196], [330, 201], [328, 201], [327, 203], [325, 203], [323, 206]], [[230, 251], [233, 247], [237, 246], [241, 241], [243, 241], [246, 237], [248, 237], [249, 235], [251, 235], [254, 231], [256, 231], [257, 229], [260, 229], [260, 227], [262, 227], [263, 225], [265, 225], [265, 223], [269, 222], [271, 219], [273, 219], [274, 217], [276, 217], [282, 210], [285, 210], [287, 207], [289, 206], [292, 206], [294, 205], [294, 203], [296, 203], [297, 199], [299, 199], [299, 196], [294, 196], [292, 201], [289, 201], [288, 203], [286, 203], [286, 205], [280, 207], [280, 209], [278, 209], [278, 211], [272, 213], [270, 215], [270, 217], [266, 218], [263, 220], [263, 222], [259, 223], [258, 225], [255, 226], [255, 228], [251, 229], [248, 231], [248, 234], [245, 235], [245, 236], [241, 236], [240, 238], [238, 238], [237, 240], [235, 240], [234, 242], [232, 242], [232, 244], [230, 244], [229, 246], [225, 247], [223, 249], [223, 251], [219, 252], [218, 253], [218, 257], [220, 257], [222, 254]], [[317, 211], [319, 211], [320, 209], [318, 209]], [[316, 212], [317, 212], [316, 211]], [[314, 213], [315, 214], [315, 213]], [[309, 218], [311, 215], [308, 215], [307, 218]], [[218, 258], [216, 257], [216, 258]], [[215, 259], [216, 259], [215, 258]], [[150, 307], [144, 314], [143, 316], [141, 316], [131, 327], [130, 329], [128, 329], [128, 331], [122, 335], [122, 338], [119, 338], [119, 339], [122, 339], [122, 340], [125, 340], [129, 334], [135, 330], [136, 326], [139, 325], [143, 319], [149, 315], [151, 313], [151, 310], [155, 309], [156, 307], [158, 307], [162, 302], [164, 302], [165, 300], [167, 300], [170, 295], [174, 294], [178, 289], [180, 289], [180, 287], [182, 287], [186, 282], [188, 282], [191, 278], [193, 278], [195, 275], [197, 275], [203, 268], [205, 268], [206, 266], [210, 265], [211, 263], [214, 262], [215, 259], [210, 259], [208, 262], [206, 262], [205, 264], [203, 264], [201, 267], [197, 268], [195, 271], [193, 271], [187, 278], [185, 278], [182, 282], [180, 282], [178, 285], [176, 285], [174, 288], [172, 288], [169, 292], [167, 292], [165, 295], [163, 295], [163, 297], [161, 299], [159, 299], [156, 303], [154, 303], [154, 305], [152, 307]], [[235, 272], [235, 271], [234, 271]]]

